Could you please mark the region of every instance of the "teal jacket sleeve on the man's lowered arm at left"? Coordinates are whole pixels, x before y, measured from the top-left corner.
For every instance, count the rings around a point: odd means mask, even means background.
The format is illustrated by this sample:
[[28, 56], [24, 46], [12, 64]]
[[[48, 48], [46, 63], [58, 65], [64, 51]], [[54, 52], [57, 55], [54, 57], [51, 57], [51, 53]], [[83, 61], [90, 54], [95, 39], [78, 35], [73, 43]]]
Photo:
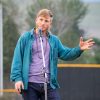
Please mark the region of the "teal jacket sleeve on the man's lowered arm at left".
[[11, 81], [22, 81], [23, 50], [24, 44], [20, 37], [14, 50], [10, 74]]

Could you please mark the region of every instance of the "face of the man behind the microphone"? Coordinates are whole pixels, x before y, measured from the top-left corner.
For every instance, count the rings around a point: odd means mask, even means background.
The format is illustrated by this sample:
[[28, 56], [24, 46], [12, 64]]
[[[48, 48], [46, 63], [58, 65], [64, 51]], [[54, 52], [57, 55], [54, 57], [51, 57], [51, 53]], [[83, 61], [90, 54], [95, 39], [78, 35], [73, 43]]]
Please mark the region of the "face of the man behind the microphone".
[[51, 26], [52, 20], [50, 16], [39, 16], [35, 22], [37, 28], [41, 28], [42, 31], [47, 31]]

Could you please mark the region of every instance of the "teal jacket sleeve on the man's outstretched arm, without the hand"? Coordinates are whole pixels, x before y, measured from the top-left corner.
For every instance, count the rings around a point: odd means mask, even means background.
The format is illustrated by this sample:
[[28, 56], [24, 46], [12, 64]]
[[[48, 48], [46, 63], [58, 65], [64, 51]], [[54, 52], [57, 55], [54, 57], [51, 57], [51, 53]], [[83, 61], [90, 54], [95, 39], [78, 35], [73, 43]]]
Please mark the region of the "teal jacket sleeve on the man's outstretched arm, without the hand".
[[58, 57], [62, 60], [74, 60], [78, 58], [83, 51], [79, 46], [75, 48], [68, 48], [62, 45], [61, 41], [58, 39]]

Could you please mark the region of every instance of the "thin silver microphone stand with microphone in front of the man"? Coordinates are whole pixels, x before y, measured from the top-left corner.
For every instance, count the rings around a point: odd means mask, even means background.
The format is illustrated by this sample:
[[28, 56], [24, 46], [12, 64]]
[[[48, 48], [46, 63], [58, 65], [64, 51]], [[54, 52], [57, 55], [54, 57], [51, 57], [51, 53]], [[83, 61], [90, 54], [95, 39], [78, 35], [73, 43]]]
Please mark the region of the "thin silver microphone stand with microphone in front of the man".
[[43, 72], [44, 72], [44, 91], [45, 91], [45, 100], [47, 100], [47, 73], [46, 73], [46, 66], [45, 66], [45, 58], [44, 58], [44, 49], [43, 49], [43, 41], [42, 41], [42, 30], [39, 29], [39, 38], [41, 43], [41, 51], [42, 51], [42, 58], [43, 58]]

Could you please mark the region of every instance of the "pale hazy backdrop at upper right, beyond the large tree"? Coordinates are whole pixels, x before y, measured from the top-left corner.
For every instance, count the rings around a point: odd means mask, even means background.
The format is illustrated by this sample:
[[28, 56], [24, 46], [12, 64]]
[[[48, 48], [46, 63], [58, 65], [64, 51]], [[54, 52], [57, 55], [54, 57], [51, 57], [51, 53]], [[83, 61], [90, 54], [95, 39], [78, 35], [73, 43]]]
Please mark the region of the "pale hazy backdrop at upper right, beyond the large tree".
[[[94, 1], [94, 0], [84, 0]], [[100, 1], [100, 0], [95, 0]], [[88, 13], [80, 23], [80, 27], [84, 29], [85, 36], [100, 38], [100, 2], [89, 3]]]

